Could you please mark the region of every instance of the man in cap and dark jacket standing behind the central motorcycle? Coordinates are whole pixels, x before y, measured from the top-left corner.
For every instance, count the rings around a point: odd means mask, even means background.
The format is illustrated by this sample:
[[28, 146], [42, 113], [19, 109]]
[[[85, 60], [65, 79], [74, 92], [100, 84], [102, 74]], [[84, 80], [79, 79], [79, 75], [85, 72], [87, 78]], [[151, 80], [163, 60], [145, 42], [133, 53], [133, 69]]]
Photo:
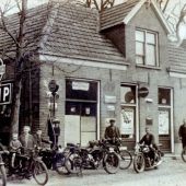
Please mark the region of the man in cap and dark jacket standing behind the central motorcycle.
[[105, 139], [108, 139], [112, 143], [115, 143], [115, 140], [120, 138], [119, 128], [116, 126], [115, 119], [109, 120], [109, 126], [105, 129]]

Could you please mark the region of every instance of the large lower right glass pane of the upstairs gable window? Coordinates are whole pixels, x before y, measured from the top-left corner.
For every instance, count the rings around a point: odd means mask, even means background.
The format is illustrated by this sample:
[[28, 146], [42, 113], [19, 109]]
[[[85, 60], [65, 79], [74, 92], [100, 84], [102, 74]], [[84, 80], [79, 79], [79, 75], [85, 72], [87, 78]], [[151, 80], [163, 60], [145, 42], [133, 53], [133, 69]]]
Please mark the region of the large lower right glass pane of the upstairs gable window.
[[147, 45], [147, 65], [155, 66], [155, 46]]

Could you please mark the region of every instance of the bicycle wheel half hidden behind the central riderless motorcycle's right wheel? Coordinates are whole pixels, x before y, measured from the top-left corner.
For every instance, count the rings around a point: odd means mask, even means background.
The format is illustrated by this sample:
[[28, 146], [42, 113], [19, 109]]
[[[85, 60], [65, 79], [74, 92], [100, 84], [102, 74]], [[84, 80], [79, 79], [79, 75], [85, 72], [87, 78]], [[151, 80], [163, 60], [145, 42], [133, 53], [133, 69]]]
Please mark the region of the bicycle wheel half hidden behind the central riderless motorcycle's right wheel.
[[127, 150], [120, 150], [120, 170], [127, 170], [132, 162], [131, 153]]

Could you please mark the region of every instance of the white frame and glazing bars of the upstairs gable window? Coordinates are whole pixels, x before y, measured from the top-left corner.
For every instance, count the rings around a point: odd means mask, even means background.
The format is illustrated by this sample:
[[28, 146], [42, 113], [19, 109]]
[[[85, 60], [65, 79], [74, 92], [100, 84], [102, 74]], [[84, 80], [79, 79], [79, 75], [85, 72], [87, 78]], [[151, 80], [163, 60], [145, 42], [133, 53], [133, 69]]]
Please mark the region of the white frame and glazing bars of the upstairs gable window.
[[[139, 39], [137, 39], [137, 32], [142, 32], [144, 35], [144, 40], [141, 42]], [[154, 35], [154, 44], [152, 43], [148, 43], [148, 34], [153, 34]], [[135, 46], [136, 46], [136, 65], [137, 66], [148, 66], [148, 67], [160, 67], [160, 62], [159, 62], [159, 33], [154, 32], [154, 31], [149, 31], [149, 30], [143, 30], [143, 28], [136, 28], [135, 31]], [[137, 54], [137, 44], [142, 44], [143, 46], [143, 55], [138, 55]], [[150, 65], [147, 60], [148, 58], [148, 46], [154, 46], [154, 65]], [[137, 62], [137, 57], [141, 57], [142, 58], [142, 63], [138, 63]]]

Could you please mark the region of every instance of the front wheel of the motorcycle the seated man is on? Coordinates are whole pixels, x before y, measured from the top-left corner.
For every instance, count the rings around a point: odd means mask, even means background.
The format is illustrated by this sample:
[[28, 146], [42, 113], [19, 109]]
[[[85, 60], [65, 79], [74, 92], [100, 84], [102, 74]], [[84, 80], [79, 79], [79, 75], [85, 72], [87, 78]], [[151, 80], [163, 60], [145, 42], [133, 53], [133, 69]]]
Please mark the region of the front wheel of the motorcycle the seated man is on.
[[138, 153], [133, 158], [133, 168], [137, 173], [141, 173], [144, 171], [146, 162], [142, 153]]

